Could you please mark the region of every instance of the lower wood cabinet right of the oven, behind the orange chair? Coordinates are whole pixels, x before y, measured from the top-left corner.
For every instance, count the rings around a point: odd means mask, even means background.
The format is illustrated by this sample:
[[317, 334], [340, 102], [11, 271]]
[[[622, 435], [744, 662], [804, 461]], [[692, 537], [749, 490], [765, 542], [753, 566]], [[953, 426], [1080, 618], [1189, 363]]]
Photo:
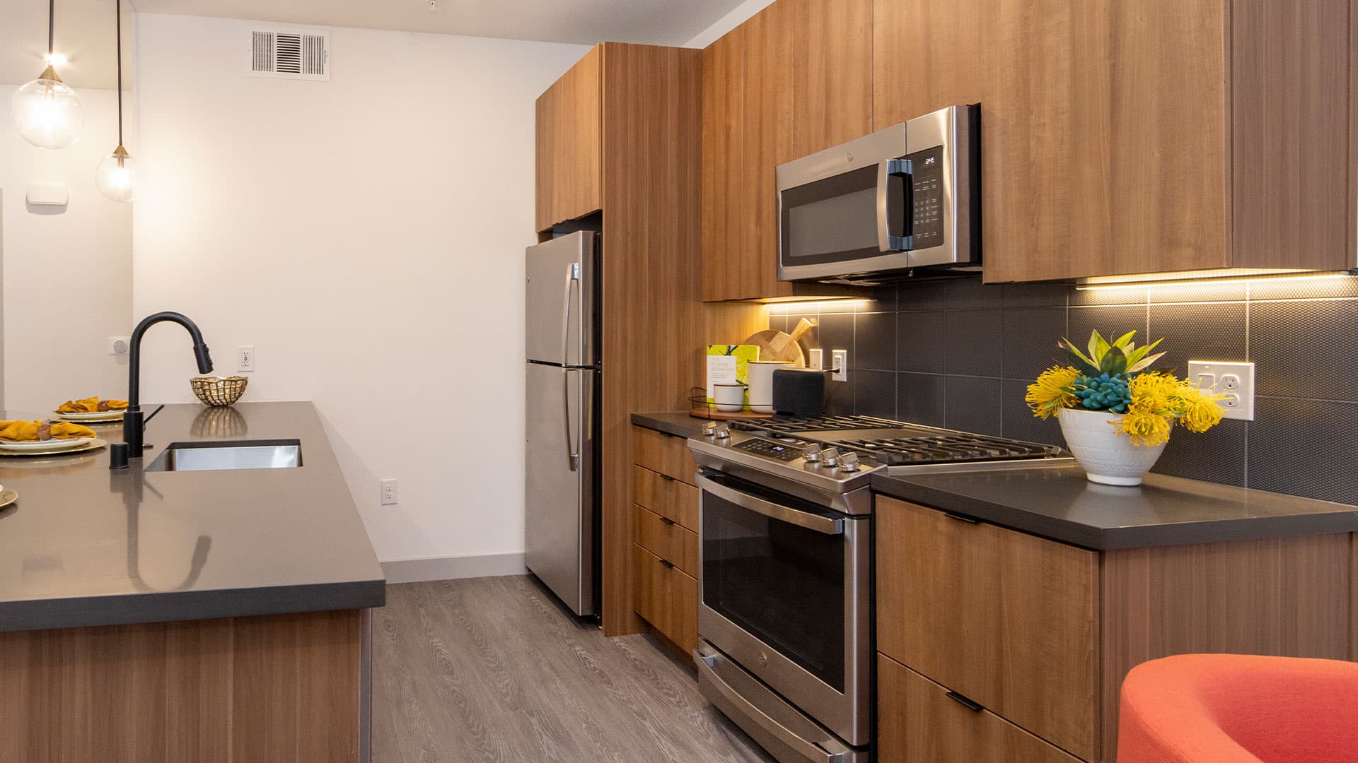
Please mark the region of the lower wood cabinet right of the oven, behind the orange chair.
[[1122, 679], [1358, 657], [1351, 534], [1092, 551], [879, 496], [879, 759], [1112, 762]]

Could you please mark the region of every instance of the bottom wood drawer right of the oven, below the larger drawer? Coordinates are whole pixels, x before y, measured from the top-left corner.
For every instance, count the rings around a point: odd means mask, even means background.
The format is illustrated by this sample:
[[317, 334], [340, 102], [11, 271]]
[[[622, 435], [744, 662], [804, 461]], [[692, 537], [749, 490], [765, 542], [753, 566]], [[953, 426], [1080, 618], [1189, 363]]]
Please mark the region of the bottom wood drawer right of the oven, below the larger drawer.
[[1080, 763], [884, 654], [877, 656], [877, 734], [881, 760]]

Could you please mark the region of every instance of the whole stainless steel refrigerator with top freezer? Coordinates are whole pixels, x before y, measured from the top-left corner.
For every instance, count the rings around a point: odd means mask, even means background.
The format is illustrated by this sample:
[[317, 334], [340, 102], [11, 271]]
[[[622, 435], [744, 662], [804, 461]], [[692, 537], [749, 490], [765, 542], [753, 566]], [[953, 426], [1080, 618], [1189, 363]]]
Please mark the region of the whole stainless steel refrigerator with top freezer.
[[599, 606], [599, 236], [527, 248], [526, 561], [577, 615]]

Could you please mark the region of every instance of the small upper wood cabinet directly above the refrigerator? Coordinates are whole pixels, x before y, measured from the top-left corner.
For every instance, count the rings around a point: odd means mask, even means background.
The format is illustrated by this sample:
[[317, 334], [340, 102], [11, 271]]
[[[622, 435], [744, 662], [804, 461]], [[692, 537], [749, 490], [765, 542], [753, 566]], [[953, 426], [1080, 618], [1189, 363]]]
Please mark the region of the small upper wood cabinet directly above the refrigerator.
[[539, 232], [603, 208], [602, 50], [591, 49], [538, 96], [534, 224]]

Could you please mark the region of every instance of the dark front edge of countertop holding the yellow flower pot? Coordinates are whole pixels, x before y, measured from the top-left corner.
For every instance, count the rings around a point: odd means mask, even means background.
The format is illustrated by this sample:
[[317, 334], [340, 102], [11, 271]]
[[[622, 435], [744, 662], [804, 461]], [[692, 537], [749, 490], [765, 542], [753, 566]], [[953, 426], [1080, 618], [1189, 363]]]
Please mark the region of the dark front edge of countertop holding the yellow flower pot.
[[1148, 527], [1097, 528], [928, 487], [903, 477], [875, 475], [872, 490], [881, 496], [964, 515], [998, 527], [1096, 551], [1358, 532], [1358, 509], [1316, 515], [1233, 517]]

